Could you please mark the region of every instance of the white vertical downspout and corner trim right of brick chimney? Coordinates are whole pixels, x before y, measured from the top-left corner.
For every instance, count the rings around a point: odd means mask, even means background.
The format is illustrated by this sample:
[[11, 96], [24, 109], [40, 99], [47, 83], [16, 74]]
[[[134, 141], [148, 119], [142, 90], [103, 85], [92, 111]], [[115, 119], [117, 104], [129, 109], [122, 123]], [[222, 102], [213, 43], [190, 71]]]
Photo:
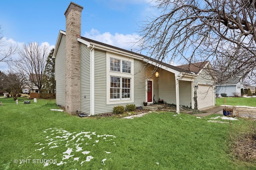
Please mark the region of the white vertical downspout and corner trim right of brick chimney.
[[90, 49], [90, 70], [91, 70], [91, 74], [90, 74], [90, 115], [94, 115], [94, 70], [92, 68], [94, 68], [94, 45], [92, 46], [92, 48]]

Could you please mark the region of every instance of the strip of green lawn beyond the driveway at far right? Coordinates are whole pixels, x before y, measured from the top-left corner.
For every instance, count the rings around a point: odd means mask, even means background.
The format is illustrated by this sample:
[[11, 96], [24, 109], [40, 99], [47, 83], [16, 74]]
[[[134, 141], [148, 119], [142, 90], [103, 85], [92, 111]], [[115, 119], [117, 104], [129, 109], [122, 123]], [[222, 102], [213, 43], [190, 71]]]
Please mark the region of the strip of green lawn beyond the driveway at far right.
[[251, 106], [256, 107], [256, 98], [235, 98], [235, 97], [225, 97], [216, 98], [216, 106], [224, 105], [224, 99], [226, 100], [226, 105], [230, 106]]

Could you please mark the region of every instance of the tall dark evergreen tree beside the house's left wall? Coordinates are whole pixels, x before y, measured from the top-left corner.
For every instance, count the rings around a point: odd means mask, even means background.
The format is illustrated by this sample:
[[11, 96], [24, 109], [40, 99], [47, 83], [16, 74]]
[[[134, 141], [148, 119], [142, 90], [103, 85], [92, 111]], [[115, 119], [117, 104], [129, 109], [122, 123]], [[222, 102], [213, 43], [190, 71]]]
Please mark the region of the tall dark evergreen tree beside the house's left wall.
[[46, 84], [45, 90], [50, 93], [55, 93], [55, 59], [52, 58], [54, 49], [48, 55], [45, 67]]

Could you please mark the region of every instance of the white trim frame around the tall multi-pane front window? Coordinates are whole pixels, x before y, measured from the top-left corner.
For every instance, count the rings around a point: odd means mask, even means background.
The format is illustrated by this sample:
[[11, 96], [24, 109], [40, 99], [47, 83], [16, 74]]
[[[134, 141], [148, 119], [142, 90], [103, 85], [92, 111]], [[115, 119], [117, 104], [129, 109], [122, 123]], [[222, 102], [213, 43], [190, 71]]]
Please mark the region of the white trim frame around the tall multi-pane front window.
[[[121, 60], [120, 72], [110, 71], [110, 58]], [[122, 61], [131, 62], [131, 73], [122, 72]], [[119, 56], [119, 55], [116, 55], [114, 53], [106, 52], [106, 63], [107, 63], [107, 74], [106, 74], [107, 99], [106, 99], [106, 104], [110, 105], [110, 104], [134, 103], [134, 59]], [[120, 78], [130, 78], [131, 79], [131, 84], [130, 84], [131, 85], [131, 88], [130, 88], [131, 89], [130, 90], [130, 97], [131, 98], [130, 99], [127, 99], [127, 98], [122, 99], [122, 93], [121, 93], [120, 99], [110, 99], [110, 76], [120, 77]], [[121, 86], [122, 86], [122, 84], [121, 84]]]

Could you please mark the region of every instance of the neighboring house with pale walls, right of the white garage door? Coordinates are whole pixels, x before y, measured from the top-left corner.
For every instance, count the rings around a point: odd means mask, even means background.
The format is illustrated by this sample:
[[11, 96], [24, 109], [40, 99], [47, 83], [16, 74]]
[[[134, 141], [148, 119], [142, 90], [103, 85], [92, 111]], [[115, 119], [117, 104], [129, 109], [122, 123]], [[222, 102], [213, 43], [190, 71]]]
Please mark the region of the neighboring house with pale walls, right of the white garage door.
[[225, 82], [216, 84], [216, 94], [226, 93], [228, 97], [234, 96], [234, 93], [241, 96], [241, 88], [244, 88], [241, 76], [231, 77]]

